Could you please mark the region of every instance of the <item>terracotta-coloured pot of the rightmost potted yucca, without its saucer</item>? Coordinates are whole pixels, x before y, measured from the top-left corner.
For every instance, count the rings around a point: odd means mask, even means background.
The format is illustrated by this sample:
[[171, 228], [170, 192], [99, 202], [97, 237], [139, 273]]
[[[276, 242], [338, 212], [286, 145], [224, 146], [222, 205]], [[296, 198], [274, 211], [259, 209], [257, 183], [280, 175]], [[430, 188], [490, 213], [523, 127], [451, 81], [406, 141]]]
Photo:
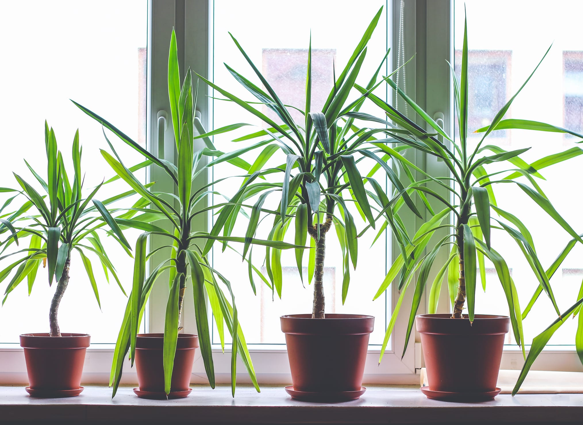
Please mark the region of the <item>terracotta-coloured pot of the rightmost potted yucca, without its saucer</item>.
[[431, 391], [486, 393], [496, 390], [508, 333], [508, 316], [476, 315], [473, 324], [449, 314], [416, 317]]

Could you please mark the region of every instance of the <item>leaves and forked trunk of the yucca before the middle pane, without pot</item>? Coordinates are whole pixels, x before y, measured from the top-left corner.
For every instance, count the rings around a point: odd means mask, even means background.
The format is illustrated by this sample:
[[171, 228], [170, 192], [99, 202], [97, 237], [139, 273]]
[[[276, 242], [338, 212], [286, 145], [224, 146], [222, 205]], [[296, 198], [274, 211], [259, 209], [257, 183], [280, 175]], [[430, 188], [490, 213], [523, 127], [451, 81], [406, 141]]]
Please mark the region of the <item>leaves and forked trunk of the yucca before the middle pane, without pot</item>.
[[[395, 221], [392, 216], [392, 207], [398, 208], [406, 203], [412, 211], [419, 215], [415, 204], [404, 191], [403, 184], [399, 180], [391, 166], [387, 164], [386, 143], [396, 141], [394, 136], [402, 130], [387, 128], [385, 120], [378, 120], [374, 117], [359, 112], [361, 104], [366, 100], [366, 96], [374, 91], [381, 83], [377, 83], [377, 76], [388, 53], [382, 58], [381, 65], [370, 79], [363, 95], [357, 97], [353, 102], [347, 102], [349, 95], [353, 92], [354, 83], [361, 73], [361, 66], [367, 54], [367, 43], [381, 16], [382, 8], [374, 16], [368, 25], [366, 32], [358, 43], [346, 67], [335, 79], [334, 86], [326, 99], [321, 112], [311, 110], [312, 97], [312, 73], [311, 73], [311, 40], [308, 48], [307, 76], [305, 83], [305, 107], [299, 111], [304, 120], [301, 123], [294, 121], [290, 114], [290, 106], [285, 105], [275, 90], [269, 85], [264, 75], [245, 53], [243, 47], [232, 36], [233, 42], [238, 50], [243, 54], [245, 60], [253, 69], [255, 76], [261, 81], [265, 90], [259, 88], [245, 76], [235, 71], [225, 64], [228, 71], [241, 83], [259, 102], [248, 102], [232, 93], [220, 88], [212, 81], [205, 81], [217, 93], [224, 96], [230, 102], [237, 103], [244, 110], [247, 110], [255, 117], [264, 121], [269, 128], [264, 128], [255, 133], [237, 138], [235, 141], [245, 141], [257, 138], [263, 140], [237, 149], [214, 159], [209, 165], [216, 165], [227, 161], [230, 158], [238, 157], [246, 152], [256, 152], [254, 169], [261, 169], [275, 152], [281, 150], [285, 154], [285, 165], [276, 168], [264, 168], [263, 173], [270, 174], [272, 180], [250, 185], [249, 181], [243, 183], [237, 194], [231, 198], [231, 202], [244, 201], [257, 197], [251, 207], [249, 222], [245, 233], [245, 245], [243, 248], [243, 259], [249, 264], [250, 280], [252, 281], [252, 249], [250, 249], [252, 238], [257, 232], [258, 224], [272, 216], [273, 223], [268, 239], [272, 241], [282, 241], [286, 234], [293, 232], [296, 245], [305, 245], [308, 235], [310, 244], [314, 248], [310, 252], [308, 260], [308, 278], [314, 281], [314, 299], [312, 304], [312, 318], [325, 318], [325, 298], [324, 298], [324, 259], [326, 248], [326, 235], [335, 226], [340, 246], [343, 252], [343, 280], [342, 280], [342, 302], [345, 302], [350, 283], [350, 264], [356, 269], [358, 255], [358, 236], [354, 218], [347, 208], [347, 203], [355, 203], [362, 213], [363, 218], [368, 222], [368, 227], [375, 228], [375, 222], [385, 215], [385, 220], [396, 229], [402, 223]], [[332, 66], [332, 64], [331, 64]], [[395, 71], [396, 72], [396, 71]], [[389, 77], [387, 77], [389, 78]], [[276, 114], [279, 122], [271, 119], [253, 104], [264, 104]], [[383, 124], [382, 128], [360, 128], [354, 124], [355, 120], [370, 119]], [[218, 128], [201, 137], [228, 133], [242, 126], [251, 124], [233, 124]], [[394, 131], [393, 131], [394, 130]], [[377, 139], [375, 134], [381, 134]], [[399, 150], [399, 148], [397, 149]], [[394, 149], [389, 148], [389, 152]], [[379, 156], [378, 153], [382, 155]], [[390, 199], [385, 193], [384, 177], [383, 184], [373, 178], [374, 172], [370, 175], [363, 175], [357, 163], [363, 159], [372, 159], [382, 167], [388, 178], [395, 187], [394, 196]], [[369, 167], [370, 169], [370, 167]], [[409, 170], [408, 170], [409, 171]], [[275, 176], [275, 178], [273, 178]], [[279, 194], [278, 194], [279, 193]], [[265, 211], [261, 218], [262, 207], [266, 198], [270, 194], [277, 194], [280, 197], [278, 211]], [[224, 208], [217, 220], [210, 235], [216, 236], [223, 232], [223, 235], [230, 235], [233, 231], [233, 224], [242, 212], [241, 207]], [[290, 229], [290, 224], [294, 222], [294, 227]], [[384, 228], [383, 228], [384, 229]], [[381, 231], [383, 230], [381, 229]], [[208, 253], [212, 247], [214, 239], [209, 239], [203, 253]], [[304, 252], [296, 250], [297, 268], [302, 277]], [[265, 266], [269, 281], [264, 281], [276, 291], [279, 297], [282, 294], [282, 264], [281, 252], [279, 249], [269, 247], [266, 249]], [[255, 269], [258, 273], [258, 270]]]

